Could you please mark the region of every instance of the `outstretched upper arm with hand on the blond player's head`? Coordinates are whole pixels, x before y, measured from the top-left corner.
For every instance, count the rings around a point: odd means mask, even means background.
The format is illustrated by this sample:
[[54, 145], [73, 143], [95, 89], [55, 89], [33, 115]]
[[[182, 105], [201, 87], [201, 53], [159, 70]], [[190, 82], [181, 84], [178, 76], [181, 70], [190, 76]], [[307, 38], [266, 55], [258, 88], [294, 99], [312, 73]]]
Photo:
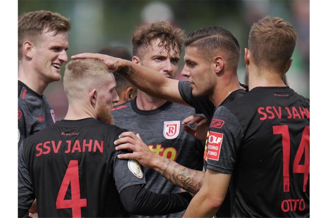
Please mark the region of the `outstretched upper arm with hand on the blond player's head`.
[[[83, 53], [74, 55], [72, 59], [92, 58], [103, 61], [108, 68], [126, 78], [138, 89], [147, 94], [168, 101], [188, 105], [181, 97], [178, 80], [167, 78], [158, 72], [140, 64], [108, 55]], [[145, 79], [147, 78], [147, 79]]]

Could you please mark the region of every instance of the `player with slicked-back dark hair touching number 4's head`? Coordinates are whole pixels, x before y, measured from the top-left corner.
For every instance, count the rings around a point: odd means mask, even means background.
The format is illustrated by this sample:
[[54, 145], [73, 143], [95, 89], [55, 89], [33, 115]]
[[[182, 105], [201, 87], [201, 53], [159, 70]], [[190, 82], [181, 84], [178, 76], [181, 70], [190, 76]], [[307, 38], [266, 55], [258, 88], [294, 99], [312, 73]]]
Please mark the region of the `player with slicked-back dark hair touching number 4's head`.
[[[240, 56], [239, 43], [234, 35], [224, 28], [205, 27], [188, 34], [185, 45], [185, 65], [182, 75], [186, 76], [188, 81], [167, 78], [133, 62], [99, 54], [79, 54], [72, 56], [72, 59], [102, 60], [109, 68], [119, 72], [141, 91], [157, 98], [192, 106], [198, 113], [201, 112], [212, 120], [217, 107], [234, 101], [246, 93], [240, 87], [236, 72]], [[195, 129], [186, 125], [195, 122], [198, 123]], [[208, 125], [202, 128], [204, 125], [198, 116], [190, 116], [182, 124], [186, 131], [206, 140]], [[220, 125], [222, 123], [218, 120], [212, 120], [210, 124], [210, 126]], [[153, 152], [149, 152], [146, 144], [131, 132], [121, 134], [115, 144], [121, 143], [122, 145], [119, 145], [117, 149], [129, 147], [133, 150], [133, 154], [122, 155], [119, 158], [133, 156], [142, 165], [154, 169], [176, 186], [189, 192], [197, 193], [202, 187], [205, 172], [193, 170], [170, 159], [154, 155]], [[206, 150], [204, 159], [207, 161]], [[206, 165], [207, 162], [204, 164], [205, 168]], [[231, 193], [228, 192], [226, 198], [223, 197], [225, 200], [216, 214], [218, 217], [232, 216], [231, 204], [234, 199], [232, 191], [231, 187]]]

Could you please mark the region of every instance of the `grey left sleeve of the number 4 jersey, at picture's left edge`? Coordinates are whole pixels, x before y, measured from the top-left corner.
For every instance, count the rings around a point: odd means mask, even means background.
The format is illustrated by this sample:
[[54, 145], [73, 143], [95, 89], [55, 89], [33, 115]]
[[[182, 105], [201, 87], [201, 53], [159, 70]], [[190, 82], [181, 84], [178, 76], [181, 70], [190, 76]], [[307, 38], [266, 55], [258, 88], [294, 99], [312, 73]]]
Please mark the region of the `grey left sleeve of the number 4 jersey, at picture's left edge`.
[[34, 199], [32, 180], [24, 156], [22, 143], [18, 149], [18, 208], [24, 210], [29, 209]]

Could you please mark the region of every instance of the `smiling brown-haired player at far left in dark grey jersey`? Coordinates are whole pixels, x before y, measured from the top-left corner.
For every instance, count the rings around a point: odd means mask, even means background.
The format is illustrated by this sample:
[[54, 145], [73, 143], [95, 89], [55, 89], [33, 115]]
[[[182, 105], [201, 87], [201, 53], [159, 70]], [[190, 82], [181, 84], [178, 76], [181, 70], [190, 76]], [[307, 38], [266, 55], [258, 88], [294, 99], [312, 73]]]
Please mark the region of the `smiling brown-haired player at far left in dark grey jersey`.
[[61, 78], [70, 29], [68, 18], [51, 11], [18, 18], [18, 147], [24, 138], [56, 122], [43, 92]]

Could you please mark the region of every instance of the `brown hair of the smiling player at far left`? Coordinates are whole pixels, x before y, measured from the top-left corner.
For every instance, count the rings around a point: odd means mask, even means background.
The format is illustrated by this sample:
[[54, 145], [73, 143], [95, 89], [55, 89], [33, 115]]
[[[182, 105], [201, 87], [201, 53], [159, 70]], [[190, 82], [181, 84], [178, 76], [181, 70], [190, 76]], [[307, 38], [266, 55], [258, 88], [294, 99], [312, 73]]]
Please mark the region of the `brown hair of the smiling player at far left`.
[[70, 19], [51, 11], [32, 11], [18, 17], [18, 59], [21, 59], [22, 46], [26, 40], [36, 41], [42, 31], [69, 31], [71, 29]]

